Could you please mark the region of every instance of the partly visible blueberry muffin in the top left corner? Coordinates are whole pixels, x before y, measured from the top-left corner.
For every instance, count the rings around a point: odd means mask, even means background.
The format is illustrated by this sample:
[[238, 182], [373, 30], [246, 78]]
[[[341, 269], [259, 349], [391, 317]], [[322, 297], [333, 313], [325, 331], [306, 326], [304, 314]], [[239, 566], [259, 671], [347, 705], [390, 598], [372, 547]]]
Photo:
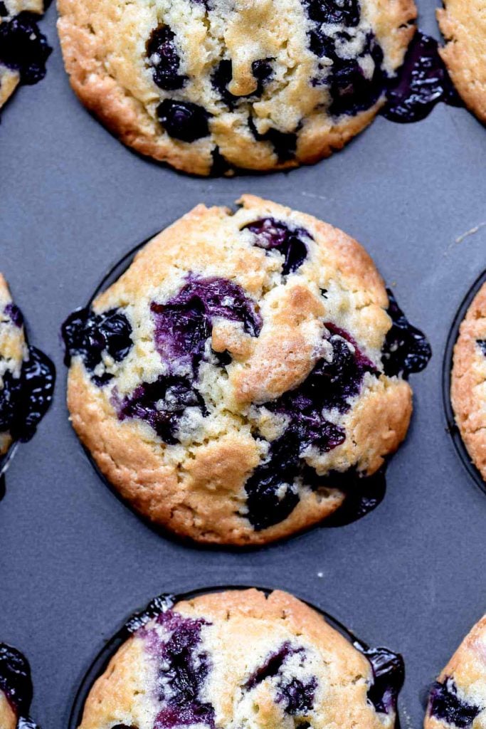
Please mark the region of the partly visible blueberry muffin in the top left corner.
[[19, 84], [44, 78], [51, 52], [37, 20], [43, 0], [0, 0], [0, 107]]

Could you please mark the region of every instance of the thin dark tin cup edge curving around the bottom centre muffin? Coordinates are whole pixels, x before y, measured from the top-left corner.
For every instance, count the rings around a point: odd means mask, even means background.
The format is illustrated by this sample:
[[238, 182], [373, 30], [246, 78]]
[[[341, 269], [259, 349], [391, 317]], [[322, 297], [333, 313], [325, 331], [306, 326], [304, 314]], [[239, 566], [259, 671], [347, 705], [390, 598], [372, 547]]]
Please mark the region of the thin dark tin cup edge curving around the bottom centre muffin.
[[[201, 595], [220, 593], [227, 590], [250, 589], [260, 590], [266, 596], [268, 596], [270, 593], [278, 590], [279, 588], [262, 587], [260, 585], [219, 585], [205, 588], [197, 588], [195, 590], [188, 590], [187, 592], [181, 593], [161, 593], [157, 597], [153, 598], [144, 609], [134, 612], [133, 615], [131, 615], [128, 620], [126, 620], [122, 627], [119, 628], [117, 633], [115, 633], [114, 636], [112, 636], [103, 645], [103, 647], [93, 660], [93, 663], [91, 663], [89, 668], [87, 668], [87, 671], [85, 672], [84, 676], [81, 679], [81, 682], [79, 683], [76, 695], [74, 696], [71, 713], [69, 714], [67, 729], [77, 729], [79, 727], [82, 721], [82, 714], [85, 709], [87, 697], [90, 693], [90, 690], [93, 688], [95, 681], [99, 677], [101, 677], [104, 671], [106, 671], [106, 668], [108, 667], [111, 658], [113, 658], [114, 654], [117, 652], [117, 650], [119, 650], [122, 644], [125, 643], [138, 628], [151, 620], [152, 617], [160, 614], [160, 612], [165, 612], [166, 610], [171, 609], [173, 605], [183, 600], [191, 600]], [[329, 623], [329, 625], [331, 625], [334, 630], [344, 636], [351, 644], [353, 644], [354, 647], [356, 647], [357, 650], [360, 650], [361, 652], [369, 650], [369, 645], [367, 643], [365, 643], [361, 639], [358, 639], [352, 633], [352, 631], [346, 628], [345, 625], [340, 623], [340, 621], [337, 620], [335, 617], [330, 615], [329, 612], [326, 612], [326, 610], [322, 609], [321, 607], [317, 607], [310, 601], [299, 597], [295, 593], [292, 594], [305, 605], [315, 610], [315, 612], [318, 612], [319, 615], [322, 615], [324, 620], [326, 620], [326, 623]], [[402, 667], [404, 670], [403, 658], [400, 654], [395, 655], [398, 655], [398, 657], [401, 659]], [[399, 693], [400, 690], [401, 687], [399, 689]], [[399, 701], [400, 698], [398, 694], [398, 702]], [[401, 729], [399, 708], [397, 708], [396, 711], [396, 721], [394, 729]]]

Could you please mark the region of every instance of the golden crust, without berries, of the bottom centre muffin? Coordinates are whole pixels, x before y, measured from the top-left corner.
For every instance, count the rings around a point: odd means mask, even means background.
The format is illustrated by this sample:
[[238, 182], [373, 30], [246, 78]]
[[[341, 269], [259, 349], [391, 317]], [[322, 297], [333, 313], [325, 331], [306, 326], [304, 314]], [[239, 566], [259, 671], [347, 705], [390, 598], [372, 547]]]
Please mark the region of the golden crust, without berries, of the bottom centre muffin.
[[[216, 726], [232, 729], [250, 718], [251, 725], [260, 729], [294, 726], [293, 717], [275, 701], [271, 682], [262, 680], [253, 690], [246, 689], [248, 678], [268, 655], [291, 644], [305, 652], [303, 665], [315, 678], [313, 707], [308, 712], [315, 729], [393, 727], [393, 713], [377, 714], [367, 701], [372, 671], [364, 655], [293, 596], [278, 590], [269, 596], [259, 590], [229, 590], [181, 601], [173, 610], [205, 621], [200, 650], [211, 668], [204, 697], [213, 706]], [[161, 706], [154, 698], [157, 690], [150, 676], [151, 671], [157, 675], [157, 657], [148, 647], [144, 660], [141, 649], [147, 631], [154, 628], [154, 622], [149, 623], [144, 634], [136, 634], [111, 659], [90, 691], [80, 729], [110, 729], [119, 722], [152, 728]], [[294, 671], [302, 676], [299, 670], [302, 666], [287, 668], [289, 677], [296, 675]]]

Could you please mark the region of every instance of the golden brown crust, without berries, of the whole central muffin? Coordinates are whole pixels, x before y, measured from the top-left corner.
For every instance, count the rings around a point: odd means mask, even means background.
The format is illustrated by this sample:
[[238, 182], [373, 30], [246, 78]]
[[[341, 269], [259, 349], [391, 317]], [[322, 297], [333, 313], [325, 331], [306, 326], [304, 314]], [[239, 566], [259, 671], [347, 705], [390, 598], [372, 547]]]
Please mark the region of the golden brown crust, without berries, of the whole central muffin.
[[[213, 349], [227, 350], [233, 359], [223, 380], [221, 370], [204, 370], [200, 391], [213, 403], [214, 413], [204, 419], [203, 432], [172, 446], [143, 421], [120, 421], [110, 391], [90, 381], [79, 358], [69, 372], [68, 408], [74, 429], [101, 472], [138, 512], [183, 537], [245, 545], [306, 529], [334, 512], [344, 498], [332, 482], [317, 491], [304, 488], [283, 521], [260, 531], [251, 526], [245, 516], [244, 484], [268, 448], [258, 434], [272, 441], [285, 427], [265, 408], [255, 412], [255, 406], [307, 378], [320, 356], [328, 317], [350, 330], [377, 363], [391, 322], [383, 281], [356, 241], [268, 200], [243, 195], [240, 203], [235, 215], [227, 208], [197, 206], [144, 246], [123, 276], [95, 301], [95, 311], [130, 306], [139, 322], [141, 339], [117, 375], [122, 394], [138, 385], [140, 372], [149, 381], [157, 378], [160, 357], [152, 354], [152, 317], [144, 307], [152, 299], [176, 294], [187, 272], [227, 278], [258, 302], [263, 317], [258, 337], [231, 321], [213, 329]], [[260, 217], [282, 219], [313, 236], [312, 252], [298, 276], [282, 281], [278, 258], [241, 236], [240, 230]], [[332, 291], [324, 298], [319, 292], [328, 286]], [[353, 407], [339, 416], [347, 434], [344, 442], [328, 453], [310, 452], [307, 463], [322, 477], [353, 466], [372, 475], [404, 439], [411, 413], [408, 383], [367, 375]]]

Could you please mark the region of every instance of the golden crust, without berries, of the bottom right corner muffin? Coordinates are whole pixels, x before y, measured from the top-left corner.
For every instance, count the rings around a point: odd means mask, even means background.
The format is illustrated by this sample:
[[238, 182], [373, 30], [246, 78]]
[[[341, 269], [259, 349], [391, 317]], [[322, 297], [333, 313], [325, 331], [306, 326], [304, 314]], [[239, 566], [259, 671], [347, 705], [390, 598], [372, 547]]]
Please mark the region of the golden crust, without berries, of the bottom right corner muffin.
[[[482, 729], [486, 720], [486, 615], [471, 628], [437, 680], [444, 683], [447, 679], [452, 680], [464, 703], [480, 709], [470, 726], [471, 729]], [[427, 712], [424, 729], [449, 726]]]

